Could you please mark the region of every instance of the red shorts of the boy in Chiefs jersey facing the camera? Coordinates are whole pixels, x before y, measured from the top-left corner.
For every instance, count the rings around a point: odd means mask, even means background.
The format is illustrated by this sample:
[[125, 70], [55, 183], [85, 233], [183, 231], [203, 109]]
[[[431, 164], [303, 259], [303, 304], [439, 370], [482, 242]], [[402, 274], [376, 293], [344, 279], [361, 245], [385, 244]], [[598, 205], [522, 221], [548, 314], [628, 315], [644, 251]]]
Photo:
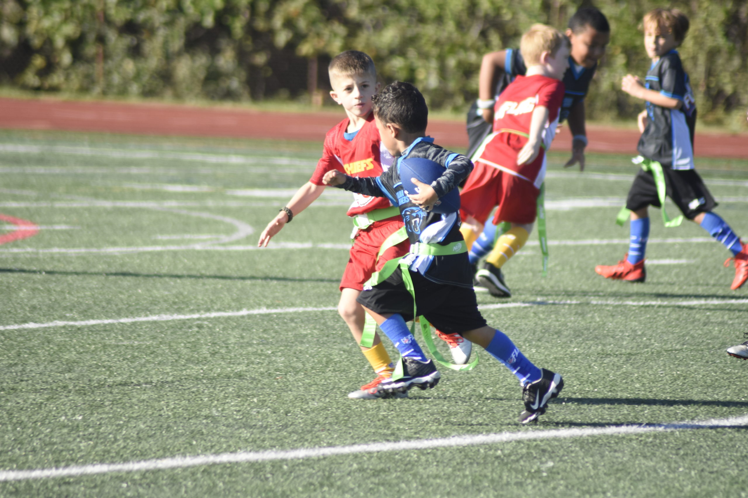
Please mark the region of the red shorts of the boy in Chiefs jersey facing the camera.
[[399, 258], [408, 253], [411, 249], [411, 242], [405, 239], [384, 251], [377, 262], [382, 243], [401, 226], [402, 218], [397, 216], [373, 222], [368, 228], [358, 231], [353, 240], [346, 271], [343, 272], [343, 278], [340, 280], [340, 290], [346, 287], [364, 290], [364, 283], [369, 280], [372, 273], [381, 270], [384, 263], [390, 259]]

